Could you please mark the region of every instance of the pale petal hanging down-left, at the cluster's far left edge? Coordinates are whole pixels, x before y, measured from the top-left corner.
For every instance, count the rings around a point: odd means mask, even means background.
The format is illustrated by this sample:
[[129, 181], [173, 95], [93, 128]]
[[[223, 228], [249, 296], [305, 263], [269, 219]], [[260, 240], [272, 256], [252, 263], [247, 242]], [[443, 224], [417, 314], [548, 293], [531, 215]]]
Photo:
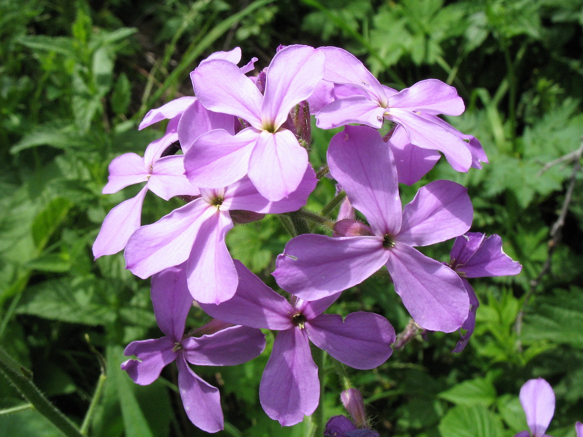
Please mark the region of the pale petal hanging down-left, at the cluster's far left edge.
[[93, 243], [95, 259], [103, 255], [113, 255], [125, 248], [129, 237], [142, 222], [142, 205], [146, 192], [147, 185], [135, 197], [124, 200], [107, 213]]

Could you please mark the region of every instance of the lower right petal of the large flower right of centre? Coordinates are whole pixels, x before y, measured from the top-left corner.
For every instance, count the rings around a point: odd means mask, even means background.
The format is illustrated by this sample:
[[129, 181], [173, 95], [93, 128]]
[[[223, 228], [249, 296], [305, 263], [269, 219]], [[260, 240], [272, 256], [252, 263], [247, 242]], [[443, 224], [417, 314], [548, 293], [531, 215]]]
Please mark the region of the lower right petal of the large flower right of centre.
[[396, 242], [387, 269], [395, 291], [419, 326], [454, 332], [468, 318], [468, 293], [461, 278], [449, 267]]

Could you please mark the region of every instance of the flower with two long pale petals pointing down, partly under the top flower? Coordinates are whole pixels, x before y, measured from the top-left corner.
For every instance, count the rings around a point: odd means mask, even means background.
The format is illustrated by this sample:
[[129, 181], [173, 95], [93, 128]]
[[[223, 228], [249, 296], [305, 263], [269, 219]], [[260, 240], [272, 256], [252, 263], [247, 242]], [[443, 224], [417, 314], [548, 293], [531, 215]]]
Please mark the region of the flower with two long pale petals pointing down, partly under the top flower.
[[202, 189], [201, 197], [156, 223], [134, 232], [125, 249], [127, 268], [143, 279], [186, 262], [188, 289], [199, 302], [219, 303], [237, 289], [237, 272], [224, 242], [233, 228], [230, 212], [282, 213], [305, 205], [315, 186], [314, 170], [289, 198], [269, 202], [249, 178], [222, 189]]

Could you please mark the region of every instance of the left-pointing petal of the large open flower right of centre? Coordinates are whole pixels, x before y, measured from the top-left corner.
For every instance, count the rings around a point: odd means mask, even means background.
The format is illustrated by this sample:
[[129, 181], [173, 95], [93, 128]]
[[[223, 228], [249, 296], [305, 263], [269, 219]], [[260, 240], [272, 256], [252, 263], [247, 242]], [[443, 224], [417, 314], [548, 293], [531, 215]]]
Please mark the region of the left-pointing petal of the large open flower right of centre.
[[382, 237], [304, 234], [287, 243], [272, 274], [283, 290], [314, 301], [360, 284], [380, 269], [388, 256]]

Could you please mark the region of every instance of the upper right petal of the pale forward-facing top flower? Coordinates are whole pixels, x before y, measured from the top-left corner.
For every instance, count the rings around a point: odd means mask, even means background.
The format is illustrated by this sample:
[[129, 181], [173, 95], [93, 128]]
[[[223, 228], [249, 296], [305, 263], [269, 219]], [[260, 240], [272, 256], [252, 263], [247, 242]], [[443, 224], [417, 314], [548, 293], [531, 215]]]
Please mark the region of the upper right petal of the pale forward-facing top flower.
[[325, 56], [308, 45], [288, 45], [278, 51], [267, 70], [261, 117], [279, 126], [295, 105], [310, 97], [324, 76]]

